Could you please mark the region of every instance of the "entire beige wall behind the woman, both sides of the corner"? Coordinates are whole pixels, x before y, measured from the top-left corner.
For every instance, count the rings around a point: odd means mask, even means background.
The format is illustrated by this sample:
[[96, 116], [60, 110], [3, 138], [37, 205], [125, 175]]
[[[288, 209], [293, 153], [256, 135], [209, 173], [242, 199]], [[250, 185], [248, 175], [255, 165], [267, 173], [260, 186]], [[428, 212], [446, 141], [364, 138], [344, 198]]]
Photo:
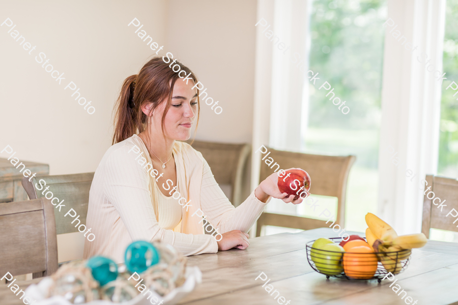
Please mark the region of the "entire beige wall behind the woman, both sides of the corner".
[[[111, 145], [112, 109], [121, 83], [155, 53], [136, 28], [127, 26], [134, 17], [164, 45], [161, 53], [180, 58], [223, 108], [217, 115], [202, 104], [196, 138], [251, 142], [254, 0], [28, 0], [4, 2], [0, 11], [0, 23], [10, 18], [16, 24], [10, 34], [17, 30], [36, 46], [29, 55], [7, 33], [11, 27], [0, 27], [0, 150], [8, 144], [21, 161], [49, 164], [52, 175], [95, 171]], [[61, 85], [36, 62], [40, 52], [64, 72]], [[92, 101], [94, 114], [64, 90], [70, 81]], [[60, 261], [82, 257], [81, 236], [59, 236]]]

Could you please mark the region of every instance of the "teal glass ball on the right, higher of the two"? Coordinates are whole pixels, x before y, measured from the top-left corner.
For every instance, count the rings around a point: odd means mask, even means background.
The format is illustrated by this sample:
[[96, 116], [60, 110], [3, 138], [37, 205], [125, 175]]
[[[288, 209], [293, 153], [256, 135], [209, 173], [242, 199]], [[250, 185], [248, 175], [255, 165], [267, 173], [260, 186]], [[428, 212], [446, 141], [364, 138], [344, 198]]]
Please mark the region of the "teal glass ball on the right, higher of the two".
[[132, 242], [126, 249], [124, 260], [130, 272], [141, 273], [159, 262], [159, 252], [151, 243], [143, 240]]

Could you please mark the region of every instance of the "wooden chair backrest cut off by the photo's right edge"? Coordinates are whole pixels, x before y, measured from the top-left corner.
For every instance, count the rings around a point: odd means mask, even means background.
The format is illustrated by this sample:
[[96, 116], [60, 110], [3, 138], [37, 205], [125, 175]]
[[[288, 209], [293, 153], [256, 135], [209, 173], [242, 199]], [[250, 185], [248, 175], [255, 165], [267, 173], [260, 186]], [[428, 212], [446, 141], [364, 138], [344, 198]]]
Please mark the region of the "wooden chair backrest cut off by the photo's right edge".
[[[425, 180], [427, 182], [425, 190], [430, 186], [431, 190], [427, 191], [423, 197], [421, 232], [427, 238], [430, 238], [431, 228], [458, 232], [458, 228], [456, 227], [458, 223], [453, 224], [456, 218], [446, 217], [452, 208], [458, 211], [458, 180], [433, 175], [426, 175]], [[434, 197], [432, 197], [430, 192], [434, 192]], [[427, 197], [428, 195], [432, 199], [429, 199]], [[435, 198], [439, 198], [440, 200]], [[446, 200], [444, 205], [447, 206], [438, 208], [440, 202], [444, 202], [444, 200]], [[453, 214], [450, 216], [453, 216]]]

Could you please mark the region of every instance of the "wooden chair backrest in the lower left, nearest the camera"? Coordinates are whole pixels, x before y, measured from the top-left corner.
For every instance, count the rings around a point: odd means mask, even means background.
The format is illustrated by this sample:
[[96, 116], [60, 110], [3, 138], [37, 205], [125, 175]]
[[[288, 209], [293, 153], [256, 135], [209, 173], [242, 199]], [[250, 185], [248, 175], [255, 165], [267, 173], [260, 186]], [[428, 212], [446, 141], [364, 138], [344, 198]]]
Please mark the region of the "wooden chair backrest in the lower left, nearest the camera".
[[0, 204], [0, 274], [34, 278], [58, 269], [51, 201], [45, 198]]

